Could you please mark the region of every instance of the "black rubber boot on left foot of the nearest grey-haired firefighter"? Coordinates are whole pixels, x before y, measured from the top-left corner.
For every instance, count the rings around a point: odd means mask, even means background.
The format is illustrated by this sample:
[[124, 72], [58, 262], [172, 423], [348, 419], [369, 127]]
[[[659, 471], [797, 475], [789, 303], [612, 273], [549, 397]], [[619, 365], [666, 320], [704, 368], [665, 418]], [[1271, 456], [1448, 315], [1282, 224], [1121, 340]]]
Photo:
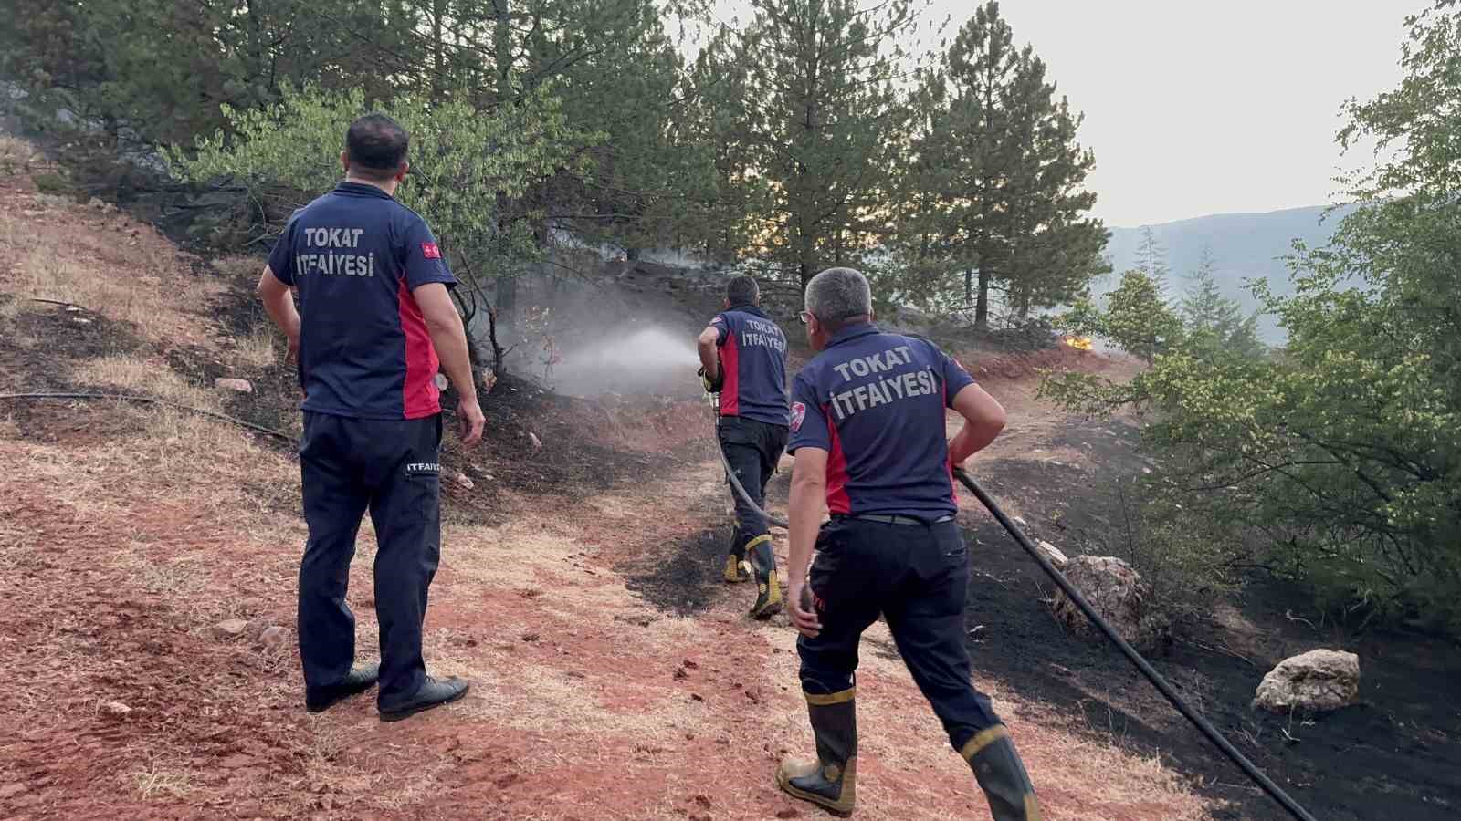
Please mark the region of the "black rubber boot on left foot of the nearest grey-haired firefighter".
[[776, 786], [839, 815], [850, 815], [858, 801], [858, 688], [831, 695], [806, 694], [806, 716], [817, 736], [817, 758], [787, 758], [776, 771]]

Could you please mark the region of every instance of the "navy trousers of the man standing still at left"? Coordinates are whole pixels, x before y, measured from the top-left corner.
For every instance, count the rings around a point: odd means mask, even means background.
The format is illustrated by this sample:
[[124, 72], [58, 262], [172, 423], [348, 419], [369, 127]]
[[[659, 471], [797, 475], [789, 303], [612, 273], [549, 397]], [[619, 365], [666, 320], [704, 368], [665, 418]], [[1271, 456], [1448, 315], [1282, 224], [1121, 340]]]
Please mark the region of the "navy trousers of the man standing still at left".
[[427, 589], [441, 557], [440, 450], [440, 415], [304, 415], [300, 472], [310, 541], [300, 562], [300, 659], [307, 688], [342, 682], [355, 662], [355, 615], [345, 590], [367, 510], [377, 538], [377, 701], [389, 709], [421, 688]]

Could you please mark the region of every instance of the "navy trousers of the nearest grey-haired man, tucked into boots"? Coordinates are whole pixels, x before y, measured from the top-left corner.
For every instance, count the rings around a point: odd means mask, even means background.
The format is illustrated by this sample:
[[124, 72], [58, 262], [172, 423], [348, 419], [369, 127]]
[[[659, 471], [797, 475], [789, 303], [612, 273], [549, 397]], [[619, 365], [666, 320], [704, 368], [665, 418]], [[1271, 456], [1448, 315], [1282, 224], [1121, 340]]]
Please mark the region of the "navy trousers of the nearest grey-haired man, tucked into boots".
[[970, 681], [969, 554], [955, 523], [833, 519], [817, 538], [808, 584], [823, 630], [817, 638], [796, 640], [804, 691], [825, 695], [853, 685], [862, 631], [881, 612], [955, 751], [1001, 723], [989, 697]]

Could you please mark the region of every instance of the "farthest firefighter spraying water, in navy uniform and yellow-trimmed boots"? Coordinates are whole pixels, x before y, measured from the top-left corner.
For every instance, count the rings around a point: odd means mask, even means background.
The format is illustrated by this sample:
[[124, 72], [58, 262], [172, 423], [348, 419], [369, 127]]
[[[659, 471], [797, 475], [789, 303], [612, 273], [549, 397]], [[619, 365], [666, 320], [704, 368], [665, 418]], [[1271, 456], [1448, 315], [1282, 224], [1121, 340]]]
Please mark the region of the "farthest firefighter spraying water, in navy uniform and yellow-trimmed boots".
[[[700, 335], [701, 380], [720, 394], [716, 435], [741, 486], [764, 510], [766, 485], [786, 450], [786, 335], [758, 307], [760, 288], [749, 276], [726, 285], [726, 310], [716, 314]], [[782, 609], [782, 587], [776, 578], [776, 552], [766, 517], [735, 489], [736, 526], [730, 535], [725, 580], [745, 581], [755, 576], [755, 618], [770, 618]]]

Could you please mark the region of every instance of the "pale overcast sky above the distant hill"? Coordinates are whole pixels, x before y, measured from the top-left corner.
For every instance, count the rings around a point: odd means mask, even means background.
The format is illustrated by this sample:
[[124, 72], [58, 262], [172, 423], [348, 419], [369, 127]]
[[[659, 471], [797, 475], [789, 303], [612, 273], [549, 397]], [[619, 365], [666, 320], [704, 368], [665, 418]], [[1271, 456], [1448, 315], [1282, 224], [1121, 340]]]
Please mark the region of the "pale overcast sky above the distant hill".
[[[722, 19], [744, 0], [720, 0]], [[1017, 42], [1086, 112], [1096, 215], [1140, 226], [1327, 205], [1340, 105], [1400, 80], [1407, 13], [1429, 0], [1004, 0]], [[976, 0], [934, 0], [948, 37]], [[742, 16], [744, 19], [744, 16]]]

